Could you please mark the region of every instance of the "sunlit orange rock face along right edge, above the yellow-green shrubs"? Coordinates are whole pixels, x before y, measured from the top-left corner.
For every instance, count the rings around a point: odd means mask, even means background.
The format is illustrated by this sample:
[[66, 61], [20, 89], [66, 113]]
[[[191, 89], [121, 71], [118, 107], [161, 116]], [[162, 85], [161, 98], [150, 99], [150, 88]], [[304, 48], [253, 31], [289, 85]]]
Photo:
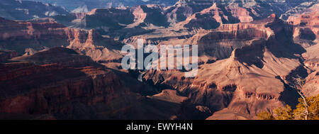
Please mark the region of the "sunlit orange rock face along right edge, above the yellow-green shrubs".
[[299, 13], [289, 16], [287, 21], [294, 26], [293, 40], [295, 43], [301, 44], [307, 51], [302, 55], [305, 59], [304, 64], [309, 69], [306, 84], [303, 86], [303, 94], [305, 96], [314, 96], [319, 94], [319, 5], [315, 2], [310, 2], [308, 6], [308, 8], [300, 10]]

